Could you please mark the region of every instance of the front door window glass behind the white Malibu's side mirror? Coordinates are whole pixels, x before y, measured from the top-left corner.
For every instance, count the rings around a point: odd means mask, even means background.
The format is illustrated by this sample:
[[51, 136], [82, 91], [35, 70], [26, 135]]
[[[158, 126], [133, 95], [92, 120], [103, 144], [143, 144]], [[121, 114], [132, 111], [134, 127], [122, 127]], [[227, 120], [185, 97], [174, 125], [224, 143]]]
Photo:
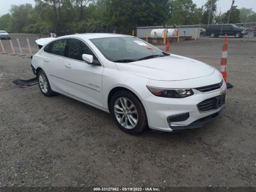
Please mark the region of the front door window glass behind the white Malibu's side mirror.
[[92, 50], [81, 40], [70, 39], [68, 58], [82, 61], [82, 54], [90, 54], [96, 59]]

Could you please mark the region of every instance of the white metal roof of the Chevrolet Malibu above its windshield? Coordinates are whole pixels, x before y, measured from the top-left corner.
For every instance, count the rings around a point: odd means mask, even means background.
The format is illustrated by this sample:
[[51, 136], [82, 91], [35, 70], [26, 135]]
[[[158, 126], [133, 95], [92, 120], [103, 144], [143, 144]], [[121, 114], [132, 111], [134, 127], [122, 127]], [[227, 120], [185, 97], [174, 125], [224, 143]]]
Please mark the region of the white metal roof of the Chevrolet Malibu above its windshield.
[[79, 37], [79, 38], [95, 39], [95, 38], [105, 38], [105, 37], [127, 37], [127, 36], [129, 35], [115, 34], [115, 33], [81, 33], [81, 34], [61, 36], [60, 38]]

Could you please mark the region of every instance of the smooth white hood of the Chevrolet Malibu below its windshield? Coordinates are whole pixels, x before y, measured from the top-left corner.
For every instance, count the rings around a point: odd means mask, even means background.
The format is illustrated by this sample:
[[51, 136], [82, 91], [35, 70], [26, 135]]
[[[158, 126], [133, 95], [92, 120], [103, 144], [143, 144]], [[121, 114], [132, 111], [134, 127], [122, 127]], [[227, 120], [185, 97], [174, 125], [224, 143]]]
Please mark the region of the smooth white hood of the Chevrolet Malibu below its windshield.
[[177, 81], [211, 75], [215, 68], [203, 62], [171, 54], [130, 63], [116, 63], [118, 70], [152, 80]]

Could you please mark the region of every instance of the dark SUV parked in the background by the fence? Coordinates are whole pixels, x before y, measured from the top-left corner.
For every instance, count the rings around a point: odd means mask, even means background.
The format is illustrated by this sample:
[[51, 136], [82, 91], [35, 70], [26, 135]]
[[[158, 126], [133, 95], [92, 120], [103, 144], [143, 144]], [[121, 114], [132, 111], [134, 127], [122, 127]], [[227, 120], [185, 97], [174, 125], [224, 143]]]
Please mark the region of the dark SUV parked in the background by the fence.
[[208, 25], [206, 29], [206, 36], [218, 37], [227, 34], [228, 36], [235, 36], [236, 38], [243, 37], [248, 34], [246, 28], [238, 27], [235, 24], [223, 25]]

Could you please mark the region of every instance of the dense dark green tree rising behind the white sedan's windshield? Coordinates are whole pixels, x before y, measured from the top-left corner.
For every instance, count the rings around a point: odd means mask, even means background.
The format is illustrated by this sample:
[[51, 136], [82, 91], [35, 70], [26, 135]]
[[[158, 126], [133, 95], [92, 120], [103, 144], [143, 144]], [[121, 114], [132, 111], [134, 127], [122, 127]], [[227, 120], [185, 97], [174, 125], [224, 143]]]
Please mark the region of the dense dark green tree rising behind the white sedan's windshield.
[[[168, 20], [168, 0], [103, 0], [103, 20], [109, 26], [161, 25]], [[136, 6], [135, 6], [136, 5]]]

